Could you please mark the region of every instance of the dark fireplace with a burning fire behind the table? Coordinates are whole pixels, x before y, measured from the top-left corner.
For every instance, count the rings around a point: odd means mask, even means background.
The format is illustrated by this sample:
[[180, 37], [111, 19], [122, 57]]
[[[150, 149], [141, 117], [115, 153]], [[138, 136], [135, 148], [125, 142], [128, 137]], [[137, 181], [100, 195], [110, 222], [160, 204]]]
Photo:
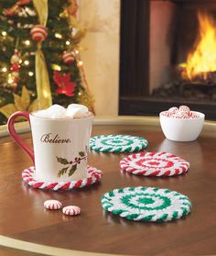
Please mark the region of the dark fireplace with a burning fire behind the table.
[[123, 0], [120, 60], [120, 115], [188, 105], [216, 119], [216, 3]]

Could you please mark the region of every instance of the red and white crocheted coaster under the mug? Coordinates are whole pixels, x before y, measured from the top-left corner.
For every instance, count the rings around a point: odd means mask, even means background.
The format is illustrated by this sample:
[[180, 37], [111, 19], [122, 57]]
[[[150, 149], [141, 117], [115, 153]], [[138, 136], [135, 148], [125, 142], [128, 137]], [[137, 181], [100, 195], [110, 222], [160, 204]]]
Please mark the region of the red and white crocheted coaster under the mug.
[[87, 168], [87, 178], [72, 181], [72, 182], [56, 182], [56, 183], [49, 183], [38, 181], [36, 178], [36, 169], [35, 166], [29, 167], [22, 173], [23, 181], [32, 186], [33, 188], [45, 189], [45, 190], [69, 190], [74, 188], [81, 188], [83, 186], [95, 184], [99, 182], [102, 178], [102, 171], [96, 169], [95, 167], [88, 166]]

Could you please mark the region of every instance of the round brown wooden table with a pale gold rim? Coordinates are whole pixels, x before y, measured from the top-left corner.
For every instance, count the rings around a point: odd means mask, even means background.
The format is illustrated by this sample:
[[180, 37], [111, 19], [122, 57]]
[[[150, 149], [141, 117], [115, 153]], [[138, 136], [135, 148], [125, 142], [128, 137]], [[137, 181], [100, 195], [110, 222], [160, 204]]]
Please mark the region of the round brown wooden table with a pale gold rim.
[[[198, 140], [174, 142], [165, 139], [157, 117], [95, 118], [92, 135], [100, 134], [144, 137], [149, 142], [147, 151], [167, 151], [189, 161], [189, 173], [167, 178], [125, 174], [120, 172], [119, 161], [128, 153], [91, 151], [89, 164], [103, 171], [100, 184], [73, 191], [42, 191], [22, 182], [22, 171], [32, 163], [12, 139], [2, 137], [0, 254], [21, 255], [22, 250], [28, 250], [27, 255], [62, 256], [216, 253], [216, 123], [206, 121]], [[23, 138], [31, 145], [29, 132]], [[178, 191], [189, 196], [191, 214], [159, 224], [133, 222], [104, 212], [102, 195], [126, 186]], [[46, 211], [43, 204], [47, 199], [57, 199], [64, 206], [80, 206], [81, 215], [67, 217], [60, 211]]]

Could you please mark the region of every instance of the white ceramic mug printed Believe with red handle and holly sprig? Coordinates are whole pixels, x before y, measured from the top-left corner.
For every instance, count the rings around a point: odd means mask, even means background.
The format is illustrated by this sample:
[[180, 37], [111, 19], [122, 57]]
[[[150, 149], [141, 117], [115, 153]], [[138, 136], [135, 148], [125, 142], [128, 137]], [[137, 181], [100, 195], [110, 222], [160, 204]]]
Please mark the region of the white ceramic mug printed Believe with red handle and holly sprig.
[[[17, 135], [16, 117], [26, 117], [32, 131], [34, 151]], [[44, 182], [71, 182], [87, 177], [87, 154], [92, 118], [46, 118], [18, 111], [8, 119], [8, 131], [30, 155], [36, 178]]]

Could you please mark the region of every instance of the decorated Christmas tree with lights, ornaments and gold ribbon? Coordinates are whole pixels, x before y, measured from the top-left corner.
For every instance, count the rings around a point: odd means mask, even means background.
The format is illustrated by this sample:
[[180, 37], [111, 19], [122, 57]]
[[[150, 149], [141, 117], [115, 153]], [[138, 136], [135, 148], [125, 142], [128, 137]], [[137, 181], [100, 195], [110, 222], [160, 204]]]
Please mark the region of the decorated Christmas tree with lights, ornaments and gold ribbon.
[[76, 0], [1, 0], [0, 124], [17, 110], [80, 103], [93, 111]]

